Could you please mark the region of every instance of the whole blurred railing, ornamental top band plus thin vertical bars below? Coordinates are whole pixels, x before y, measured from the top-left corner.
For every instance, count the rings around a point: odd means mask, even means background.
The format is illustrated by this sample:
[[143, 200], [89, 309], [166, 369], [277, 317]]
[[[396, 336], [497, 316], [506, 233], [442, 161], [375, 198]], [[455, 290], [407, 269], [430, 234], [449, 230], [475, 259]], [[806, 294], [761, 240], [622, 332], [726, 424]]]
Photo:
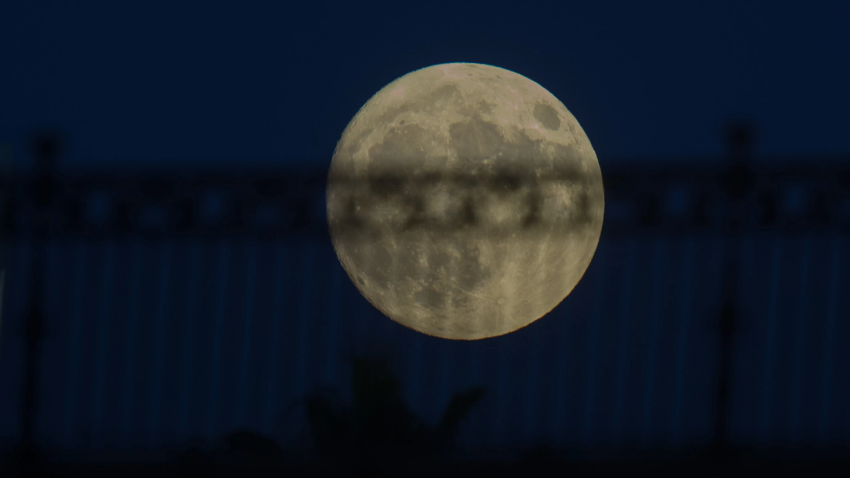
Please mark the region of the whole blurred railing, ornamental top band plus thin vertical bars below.
[[[850, 423], [839, 406], [850, 396], [847, 364], [836, 358], [850, 334], [841, 320], [848, 305], [840, 266], [850, 158], [763, 167], [733, 160], [714, 169], [604, 166], [604, 240], [577, 293], [517, 333], [476, 343], [436, 340], [369, 315], [376, 311], [344, 280], [332, 251], [309, 244], [328, 234], [324, 171], [59, 174], [42, 165], [2, 178], [0, 239], [12, 244], [15, 276], [7, 276], [14, 296], [4, 307], [14, 313], [4, 317], [0, 350], [13, 360], [0, 366], [15, 380], [0, 398], [20, 408], [7, 428], [17, 426], [26, 445], [39, 441], [36, 424], [47, 424], [41, 440], [68, 450], [119, 439], [138, 447], [137, 435], [162, 447], [166, 431], [176, 441], [212, 440], [236, 425], [271, 433], [279, 402], [307, 390], [311, 375], [336, 383], [338, 337], [379, 329], [403, 345], [416, 406], [431, 407], [456, 386], [490, 387], [491, 421], [473, 430], [484, 446], [547, 434], [559, 446], [727, 435], [769, 444], [774, 419], [789, 421], [798, 443], [815, 435], [834, 442]], [[477, 212], [492, 207], [488, 194], [471, 192], [507, 191], [519, 211], [534, 211], [547, 181], [474, 179], [446, 179], [471, 210], [462, 227], [477, 227], [474, 218], [484, 216]], [[550, 179], [572, 184], [581, 198], [581, 180]], [[386, 187], [386, 178], [352, 184], [366, 222], [367, 206], [428, 200], [419, 188]], [[781, 237], [819, 231], [815, 239]], [[747, 238], [727, 240], [735, 236]], [[54, 240], [66, 238], [82, 240]], [[145, 238], [156, 240], [136, 240]], [[264, 238], [307, 244], [254, 240]], [[738, 296], [739, 276], [752, 294]], [[709, 333], [700, 326], [706, 311], [720, 316]], [[744, 313], [746, 321], [738, 318]], [[817, 329], [807, 335], [807, 327]], [[63, 340], [42, 350], [47, 334]], [[84, 336], [92, 341], [84, 345]], [[793, 343], [793, 353], [779, 353], [780, 342]], [[735, 350], [760, 353], [747, 362]], [[794, 378], [780, 383], [779, 374]], [[760, 394], [742, 390], [754, 376]], [[789, 391], [781, 403], [780, 386]], [[141, 387], [150, 394], [139, 395]], [[706, 389], [716, 396], [706, 398]], [[739, 423], [728, 426], [730, 416]], [[802, 427], [807, 420], [816, 422], [813, 431]], [[92, 445], [81, 438], [88, 429]]]

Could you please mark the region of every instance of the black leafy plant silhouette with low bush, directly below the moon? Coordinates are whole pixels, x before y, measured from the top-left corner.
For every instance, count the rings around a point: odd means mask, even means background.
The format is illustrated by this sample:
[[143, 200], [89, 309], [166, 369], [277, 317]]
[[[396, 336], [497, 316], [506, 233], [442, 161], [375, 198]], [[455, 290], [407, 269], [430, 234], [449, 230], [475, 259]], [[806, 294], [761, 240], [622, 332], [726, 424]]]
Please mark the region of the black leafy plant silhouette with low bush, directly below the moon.
[[[224, 436], [214, 456], [197, 451], [182, 455], [179, 472], [195, 475], [205, 462], [218, 462], [218, 471], [251, 466], [254, 473], [262, 473], [262, 468], [271, 473], [281, 465], [298, 468], [297, 462], [307, 461], [320, 475], [410, 475], [422, 464], [455, 456], [460, 426], [484, 396], [484, 388], [456, 393], [439, 422], [431, 425], [405, 403], [402, 384], [387, 358], [354, 355], [350, 364], [349, 405], [336, 391], [326, 389], [317, 389], [300, 402], [309, 425], [308, 453], [286, 453], [269, 437], [235, 430]], [[306, 472], [296, 473], [302, 471]], [[208, 472], [202, 470], [201, 475]]]

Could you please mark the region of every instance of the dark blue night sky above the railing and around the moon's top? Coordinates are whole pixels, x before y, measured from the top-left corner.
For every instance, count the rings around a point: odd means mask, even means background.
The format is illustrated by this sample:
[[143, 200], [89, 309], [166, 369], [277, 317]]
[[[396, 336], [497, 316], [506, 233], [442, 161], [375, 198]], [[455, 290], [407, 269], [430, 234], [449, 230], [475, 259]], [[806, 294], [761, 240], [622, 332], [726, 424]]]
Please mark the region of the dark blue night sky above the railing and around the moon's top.
[[603, 161], [850, 151], [846, 2], [12, 2], [0, 141], [65, 133], [63, 162], [324, 166], [365, 101], [451, 61], [555, 94]]

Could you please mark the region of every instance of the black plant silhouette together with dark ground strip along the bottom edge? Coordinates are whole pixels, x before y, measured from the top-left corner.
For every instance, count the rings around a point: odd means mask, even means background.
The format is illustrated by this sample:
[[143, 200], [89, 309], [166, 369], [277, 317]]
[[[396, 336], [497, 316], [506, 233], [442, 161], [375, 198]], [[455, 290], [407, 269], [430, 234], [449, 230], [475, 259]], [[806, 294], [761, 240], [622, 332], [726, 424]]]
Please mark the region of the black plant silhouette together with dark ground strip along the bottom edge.
[[684, 453], [581, 453], [579, 450], [506, 450], [472, 458], [456, 447], [460, 425], [484, 396], [472, 388], [453, 396], [438, 423], [429, 425], [405, 404], [388, 361], [353, 357], [351, 402], [317, 390], [301, 401], [308, 451], [281, 448], [252, 430], [235, 430], [212, 451], [190, 449], [150, 464], [51, 462], [34, 449], [8, 457], [0, 477], [282, 477], [282, 476], [850, 476], [847, 450], [729, 448]]

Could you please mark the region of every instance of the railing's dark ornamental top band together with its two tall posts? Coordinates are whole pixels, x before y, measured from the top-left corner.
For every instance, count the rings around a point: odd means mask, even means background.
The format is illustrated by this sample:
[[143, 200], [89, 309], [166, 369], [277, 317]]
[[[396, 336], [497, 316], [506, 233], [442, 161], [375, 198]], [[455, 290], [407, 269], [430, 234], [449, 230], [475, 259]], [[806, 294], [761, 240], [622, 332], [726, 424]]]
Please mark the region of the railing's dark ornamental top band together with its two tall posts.
[[[739, 138], [739, 142], [745, 141]], [[732, 161], [703, 167], [604, 167], [604, 236], [655, 233], [668, 236], [743, 233], [796, 234], [850, 231], [850, 158], [835, 158], [818, 166], [807, 158], [783, 160], [784, 166], [755, 166], [748, 154], [731, 149]], [[739, 148], [740, 149], [740, 148]], [[33, 246], [29, 311], [24, 335], [23, 399], [20, 436], [31, 446], [37, 402], [37, 370], [42, 340], [44, 244], [48, 239], [77, 236], [172, 238], [175, 236], [246, 235], [254, 238], [326, 238], [325, 171], [271, 171], [251, 174], [208, 173], [63, 173], [55, 171], [56, 147], [49, 139], [37, 143], [31, 174], [0, 179], [0, 238], [24, 239]], [[330, 178], [354, 185], [352, 200], [360, 201], [362, 225], [369, 223], [370, 205], [416, 205], [427, 198], [421, 188], [383, 177], [367, 183]], [[422, 178], [431, 182], [434, 177]], [[526, 211], [534, 211], [547, 181], [571, 182], [581, 196], [587, 181], [575, 172], [554, 177], [496, 177], [480, 183], [475, 177], [442, 178], [466, 188], [507, 188], [519, 192]], [[392, 187], [387, 187], [387, 184]], [[380, 190], [380, 194], [375, 194]], [[468, 192], [468, 191], [467, 191]], [[358, 196], [360, 194], [360, 196]], [[465, 199], [462, 227], [477, 227], [479, 211], [490, 207], [487, 194]], [[377, 199], [376, 199], [377, 198]], [[581, 201], [576, 202], [581, 208]], [[413, 208], [415, 211], [416, 208]], [[470, 213], [471, 212], [471, 213]], [[576, 217], [582, 217], [581, 211]], [[527, 217], [518, 222], [528, 223]], [[532, 221], [533, 222], [533, 221]], [[354, 223], [354, 222], [352, 222]], [[717, 321], [717, 423], [715, 441], [723, 447], [727, 433], [730, 354], [736, 329], [737, 239], [728, 248], [723, 273], [723, 304]], [[27, 444], [30, 445], [27, 445]], [[718, 444], [719, 443], [719, 444]]]

